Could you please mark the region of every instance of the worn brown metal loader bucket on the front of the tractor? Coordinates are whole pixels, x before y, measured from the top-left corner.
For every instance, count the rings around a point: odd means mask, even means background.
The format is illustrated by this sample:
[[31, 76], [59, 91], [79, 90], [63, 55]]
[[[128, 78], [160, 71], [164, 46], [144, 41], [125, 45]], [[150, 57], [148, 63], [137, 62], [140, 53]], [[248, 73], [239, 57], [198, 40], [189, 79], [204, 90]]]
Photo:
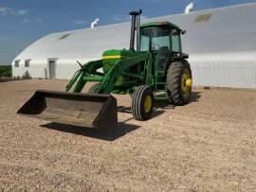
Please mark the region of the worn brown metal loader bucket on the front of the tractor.
[[115, 127], [117, 99], [110, 95], [36, 91], [19, 114], [83, 127]]

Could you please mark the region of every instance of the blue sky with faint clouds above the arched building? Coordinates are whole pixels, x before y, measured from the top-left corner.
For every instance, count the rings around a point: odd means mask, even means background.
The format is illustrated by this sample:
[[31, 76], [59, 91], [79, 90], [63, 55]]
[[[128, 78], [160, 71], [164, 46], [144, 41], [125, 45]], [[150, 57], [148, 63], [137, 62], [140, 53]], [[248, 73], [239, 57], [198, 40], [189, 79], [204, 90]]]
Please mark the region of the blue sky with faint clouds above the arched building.
[[[125, 22], [132, 9], [147, 18], [181, 13], [192, 0], [0, 0], [0, 64], [48, 33]], [[197, 0], [194, 9], [211, 9], [256, 0]]]

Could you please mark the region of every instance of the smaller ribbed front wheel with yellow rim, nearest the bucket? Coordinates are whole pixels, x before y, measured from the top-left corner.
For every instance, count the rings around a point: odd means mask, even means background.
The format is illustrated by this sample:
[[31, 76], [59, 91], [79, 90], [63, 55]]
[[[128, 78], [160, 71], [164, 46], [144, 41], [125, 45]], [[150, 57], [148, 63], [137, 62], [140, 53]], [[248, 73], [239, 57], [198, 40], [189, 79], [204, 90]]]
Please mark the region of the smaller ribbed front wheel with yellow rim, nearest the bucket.
[[139, 121], [147, 120], [153, 112], [153, 91], [149, 86], [138, 86], [132, 100], [132, 113]]

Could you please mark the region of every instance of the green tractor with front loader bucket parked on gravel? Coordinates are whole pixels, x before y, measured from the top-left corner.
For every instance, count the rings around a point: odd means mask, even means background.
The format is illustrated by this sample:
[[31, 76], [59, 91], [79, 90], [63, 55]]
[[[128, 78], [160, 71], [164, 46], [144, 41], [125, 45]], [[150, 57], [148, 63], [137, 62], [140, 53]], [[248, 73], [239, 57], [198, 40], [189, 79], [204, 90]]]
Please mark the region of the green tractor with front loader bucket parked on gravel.
[[[130, 12], [130, 49], [107, 50], [99, 61], [85, 64], [78, 61], [81, 69], [69, 81], [65, 92], [37, 91], [18, 113], [101, 128], [118, 123], [117, 100], [110, 94], [131, 95], [131, 110], [139, 121], [151, 117], [157, 101], [174, 105], [188, 103], [192, 71], [186, 60], [189, 55], [181, 48], [180, 36], [185, 31], [166, 21], [140, 26], [141, 12]], [[89, 93], [82, 94], [84, 85], [92, 81], [96, 83]]]

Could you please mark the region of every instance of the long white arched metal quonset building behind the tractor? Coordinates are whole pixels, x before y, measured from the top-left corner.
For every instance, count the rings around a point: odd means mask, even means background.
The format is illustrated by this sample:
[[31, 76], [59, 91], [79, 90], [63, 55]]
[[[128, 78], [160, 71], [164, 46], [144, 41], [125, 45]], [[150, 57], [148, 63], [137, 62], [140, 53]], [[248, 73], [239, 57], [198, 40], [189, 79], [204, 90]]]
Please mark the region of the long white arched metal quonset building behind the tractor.
[[[194, 85], [256, 88], [256, 4], [194, 11], [142, 21], [166, 20], [187, 30]], [[107, 49], [128, 48], [130, 23], [49, 34], [12, 61], [12, 74], [70, 79], [76, 61], [98, 60]]]

